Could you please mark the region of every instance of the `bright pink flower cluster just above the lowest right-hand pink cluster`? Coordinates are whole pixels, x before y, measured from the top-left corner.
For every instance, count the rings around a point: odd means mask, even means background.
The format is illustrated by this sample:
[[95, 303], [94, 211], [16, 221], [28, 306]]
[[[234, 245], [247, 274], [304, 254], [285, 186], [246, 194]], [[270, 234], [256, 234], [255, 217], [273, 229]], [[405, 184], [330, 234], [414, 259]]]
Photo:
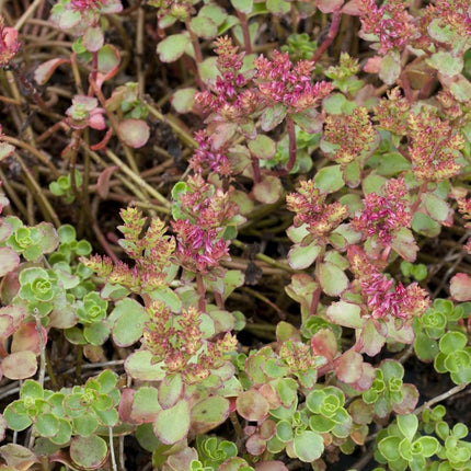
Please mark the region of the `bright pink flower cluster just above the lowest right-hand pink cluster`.
[[406, 199], [407, 188], [402, 179], [390, 180], [383, 196], [370, 193], [364, 198], [364, 209], [352, 220], [355, 230], [365, 237], [377, 236], [383, 245], [390, 245], [395, 232], [411, 226], [412, 215]]

